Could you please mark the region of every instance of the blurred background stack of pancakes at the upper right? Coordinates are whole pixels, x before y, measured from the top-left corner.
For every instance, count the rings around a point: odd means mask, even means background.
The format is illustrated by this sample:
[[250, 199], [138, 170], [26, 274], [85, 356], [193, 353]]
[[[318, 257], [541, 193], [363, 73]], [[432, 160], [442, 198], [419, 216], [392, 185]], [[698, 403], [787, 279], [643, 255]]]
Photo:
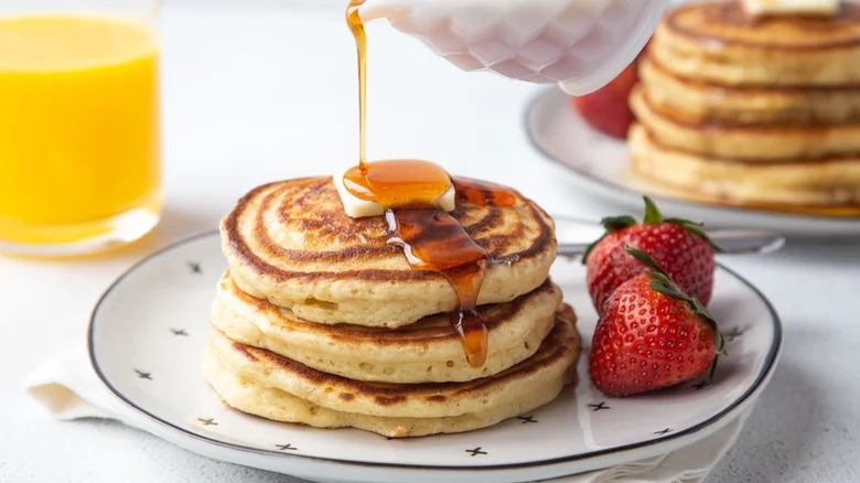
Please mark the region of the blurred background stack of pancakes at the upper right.
[[860, 6], [751, 18], [738, 2], [668, 14], [631, 95], [637, 178], [740, 205], [860, 206]]

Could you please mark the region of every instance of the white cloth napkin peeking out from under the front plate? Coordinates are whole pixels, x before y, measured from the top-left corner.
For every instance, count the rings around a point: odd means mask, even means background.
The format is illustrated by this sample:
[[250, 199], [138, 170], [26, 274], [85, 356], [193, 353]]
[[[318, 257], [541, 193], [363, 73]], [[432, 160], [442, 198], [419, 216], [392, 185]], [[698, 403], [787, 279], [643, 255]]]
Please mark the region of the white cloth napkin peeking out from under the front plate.
[[[56, 419], [108, 418], [141, 427], [141, 416], [129, 410], [96, 376], [86, 347], [71, 348], [43, 362], [28, 376], [26, 391]], [[749, 411], [671, 453], [542, 483], [700, 483], [734, 443]]]

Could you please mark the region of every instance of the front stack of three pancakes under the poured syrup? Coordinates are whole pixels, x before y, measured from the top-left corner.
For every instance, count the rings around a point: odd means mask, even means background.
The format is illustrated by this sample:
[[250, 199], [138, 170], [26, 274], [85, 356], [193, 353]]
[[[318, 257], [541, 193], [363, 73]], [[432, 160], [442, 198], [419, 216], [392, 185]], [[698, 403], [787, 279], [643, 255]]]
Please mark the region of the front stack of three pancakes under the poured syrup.
[[[548, 278], [551, 219], [458, 200], [452, 216], [491, 257], [479, 313], [486, 363], [466, 361], [443, 275], [410, 268], [381, 216], [351, 218], [331, 178], [260, 186], [222, 221], [208, 383], [236, 409], [388, 437], [460, 432], [552, 400], [579, 335]], [[492, 262], [492, 260], [496, 260]]]

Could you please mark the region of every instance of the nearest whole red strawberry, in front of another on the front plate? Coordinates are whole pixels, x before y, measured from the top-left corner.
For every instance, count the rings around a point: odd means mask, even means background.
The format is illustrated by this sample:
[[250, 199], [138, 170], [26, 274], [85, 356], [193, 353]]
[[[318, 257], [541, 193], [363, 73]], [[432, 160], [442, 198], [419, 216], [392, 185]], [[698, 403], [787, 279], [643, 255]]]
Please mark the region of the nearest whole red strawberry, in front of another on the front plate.
[[630, 396], [692, 380], [716, 367], [722, 335], [705, 307], [684, 293], [643, 251], [649, 270], [606, 301], [591, 342], [589, 375], [609, 396]]

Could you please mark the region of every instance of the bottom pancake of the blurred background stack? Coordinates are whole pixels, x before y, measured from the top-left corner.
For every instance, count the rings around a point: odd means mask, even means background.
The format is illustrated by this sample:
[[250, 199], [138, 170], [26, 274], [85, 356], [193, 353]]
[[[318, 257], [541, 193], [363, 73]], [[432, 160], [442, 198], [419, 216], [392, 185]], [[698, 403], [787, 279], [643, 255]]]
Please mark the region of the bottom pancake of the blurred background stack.
[[628, 136], [637, 176], [668, 194], [738, 205], [860, 206], [860, 157], [746, 163], [667, 148], [642, 125]]

